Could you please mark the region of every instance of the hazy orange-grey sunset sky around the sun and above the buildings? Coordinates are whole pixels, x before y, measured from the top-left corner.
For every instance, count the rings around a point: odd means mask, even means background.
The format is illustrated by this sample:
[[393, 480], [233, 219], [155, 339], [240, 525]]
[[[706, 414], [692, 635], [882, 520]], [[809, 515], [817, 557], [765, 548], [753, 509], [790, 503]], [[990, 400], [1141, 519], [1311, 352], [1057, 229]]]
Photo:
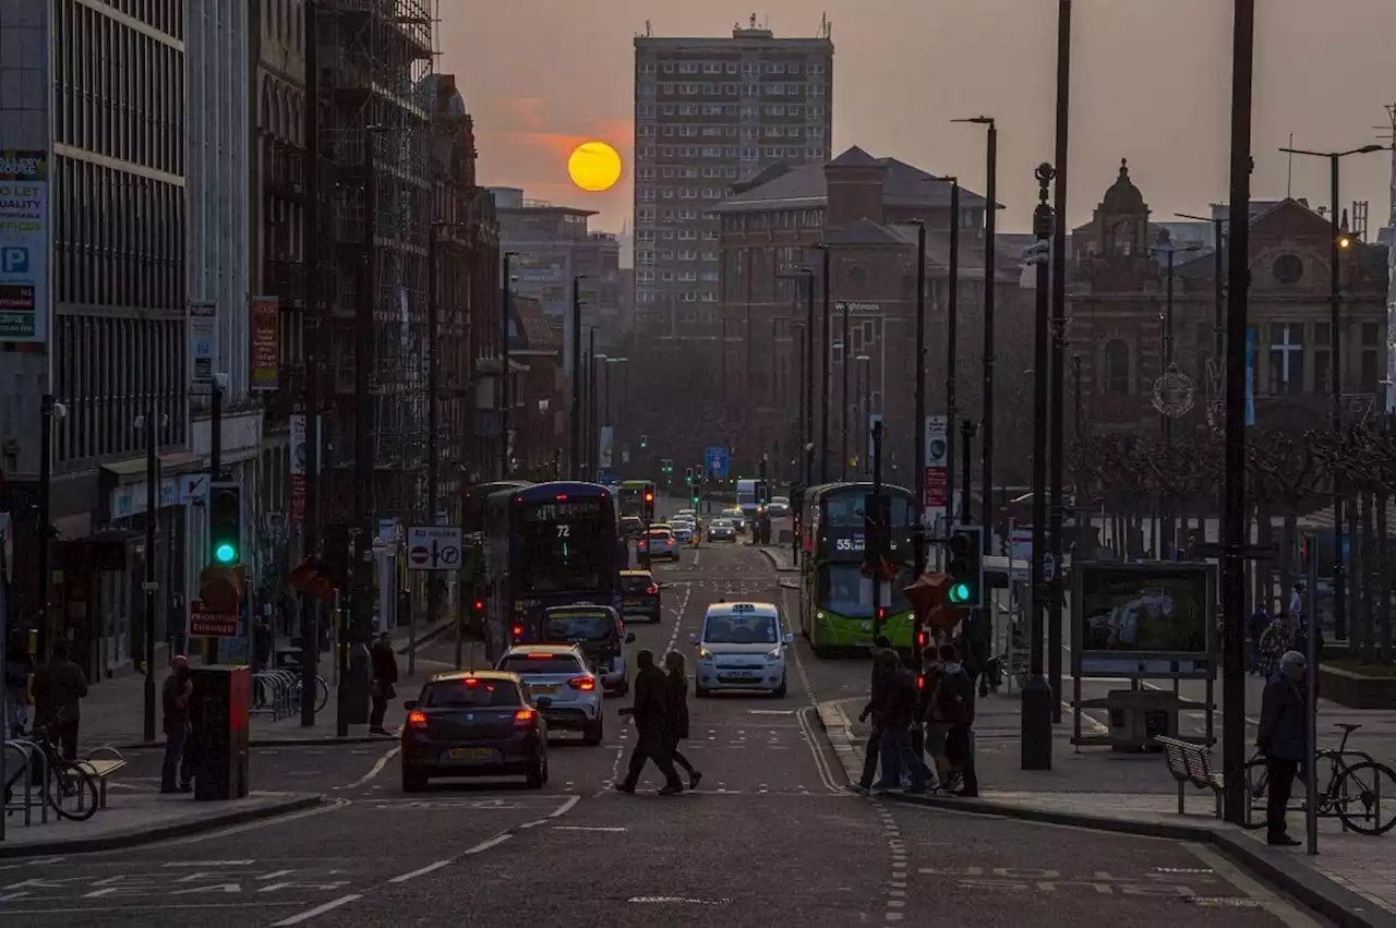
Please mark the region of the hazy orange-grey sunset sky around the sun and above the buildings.
[[[631, 181], [586, 194], [567, 155], [588, 138], [630, 162], [632, 38], [727, 35], [750, 6], [709, 0], [441, 1], [440, 68], [459, 77], [476, 120], [480, 179], [532, 197], [630, 218]], [[1396, 0], [1259, 0], [1254, 195], [1286, 193], [1300, 148], [1354, 148], [1379, 137], [1396, 102]], [[780, 36], [833, 24], [833, 149], [857, 144], [983, 187], [983, 131], [1000, 124], [1000, 229], [1026, 230], [1033, 167], [1051, 158], [1053, 0], [765, 0], [754, 10]], [[1227, 197], [1231, 4], [1226, 0], [1075, 0], [1071, 219], [1082, 222], [1128, 158], [1157, 219], [1205, 212]], [[1389, 130], [1388, 130], [1389, 131]], [[1390, 209], [1390, 159], [1344, 162], [1343, 202]], [[1328, 201], [1326, 165], [1294, 162], [1294, 194]]]

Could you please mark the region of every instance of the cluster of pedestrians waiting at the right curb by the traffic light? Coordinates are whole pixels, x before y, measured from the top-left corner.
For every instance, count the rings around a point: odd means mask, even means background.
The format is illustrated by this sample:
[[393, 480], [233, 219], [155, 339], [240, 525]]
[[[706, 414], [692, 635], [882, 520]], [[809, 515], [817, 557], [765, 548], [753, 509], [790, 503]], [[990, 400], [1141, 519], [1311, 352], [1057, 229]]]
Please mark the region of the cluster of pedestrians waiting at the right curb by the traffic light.
[[[905, 661], [885, 636], [872, 645], [872, 680], [859, 721], [871, 719], [856, 793], [937, 790], [979, 795], [974, 772], [974, 680], [959, 648], [945, 642]], [[930, 756], [934, 769], [927, 765]], [[874, 783], [878, 766], [882, 776]]]

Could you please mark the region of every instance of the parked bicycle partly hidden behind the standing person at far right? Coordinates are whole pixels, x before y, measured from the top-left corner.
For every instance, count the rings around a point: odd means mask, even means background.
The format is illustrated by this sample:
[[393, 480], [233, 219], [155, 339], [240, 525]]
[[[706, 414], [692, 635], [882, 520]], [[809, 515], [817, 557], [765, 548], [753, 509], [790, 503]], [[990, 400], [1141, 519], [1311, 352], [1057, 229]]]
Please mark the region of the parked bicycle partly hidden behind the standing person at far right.
[[[1360, 835], [1385, 835], [1396, 826], [1396, 770], [1372, 759], [1364, 751], [1349, 751], [1347, 738], [1361, 728], [1360, 724], [1340, 721], [1336, 727], [1343, 733], [1337, 748], [1318, 751], [1314, 755], [1312, 772], [1319, 773], [1319, 763], [1329, 769], [1328, 786], [1318, 793], [1318, 814], [1322, 818], [1337, 816], [1343, 825]], [[1344, 758], [1361, 758], [1349, 763]], [[1305, 772], [1300, 773], [1304, 781]], [[1322, 780], [1319, 780], [1322, 783]], [[1245, 784], [1251, 811], [1262, 812], [1259, 821], [1248, 816], [1247, 828], [1265, 826], [1265, 800], [1269, 788], [1269, 772], [1265, 758], [1256, 755], [1245, 765]], [[1390, 818], [1382, 821], [1381, 808], [1385, 797]], [[1302, 805], [1300, 807], [1302, 809]]]

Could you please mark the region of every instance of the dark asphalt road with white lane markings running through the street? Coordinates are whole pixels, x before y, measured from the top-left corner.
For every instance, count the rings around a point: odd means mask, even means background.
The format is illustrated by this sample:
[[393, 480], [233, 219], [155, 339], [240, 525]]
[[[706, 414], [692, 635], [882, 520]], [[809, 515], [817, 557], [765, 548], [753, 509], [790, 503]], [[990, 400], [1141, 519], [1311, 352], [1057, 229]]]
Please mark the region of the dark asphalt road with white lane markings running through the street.
[[[688, 634], [718, 597], [782, 599], [776, 572], [747, 546], [685, 551], [658, 572], [664, 617], [632, 625], [637, 646], [656, 653], [691, 650]], [[445, 663], [450, 645], [422, 660]], [[6, 862], [0, 920], [846, 928], [953, 913], [965, 925], [1316, 924], [1205, 848], [850, 795], [811, 713], [815, 701], [856, 695], [867, 664], [818, 661], [799, 642], [785, 698], [691, 703], [695, 793], [656, 795], [653, 770], [637, 795], [610, 790], [631, 744], [618, 719], [600, 747], [556, 749], [539, 791], [466, 783], [408, 797], [391, 744], [258, 749], [260, 788], [318, 788], [332, 802], [145, 848]], [[135, 777], [152, 762], [137, 758]]]

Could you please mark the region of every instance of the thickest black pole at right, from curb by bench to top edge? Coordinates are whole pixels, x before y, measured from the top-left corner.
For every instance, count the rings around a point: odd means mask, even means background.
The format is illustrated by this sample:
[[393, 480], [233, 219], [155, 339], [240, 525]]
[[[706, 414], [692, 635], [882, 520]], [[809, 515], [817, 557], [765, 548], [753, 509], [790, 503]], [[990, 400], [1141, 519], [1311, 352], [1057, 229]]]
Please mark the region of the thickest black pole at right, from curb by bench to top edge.
[[[1222, 768], [1226, 821], [1242, 825], [1245, 788], [1245, 329], [1251, 290], [1251, 82], [1255, 0], [1234, 0], [1231, 33], [1231, 232], [1227, 239], [1226, 438], [1222, 495]], [[1336, 335], [1336, 332], [1335, 332]], [[1337, 352], [1335, 350], [1336, 356]]]

